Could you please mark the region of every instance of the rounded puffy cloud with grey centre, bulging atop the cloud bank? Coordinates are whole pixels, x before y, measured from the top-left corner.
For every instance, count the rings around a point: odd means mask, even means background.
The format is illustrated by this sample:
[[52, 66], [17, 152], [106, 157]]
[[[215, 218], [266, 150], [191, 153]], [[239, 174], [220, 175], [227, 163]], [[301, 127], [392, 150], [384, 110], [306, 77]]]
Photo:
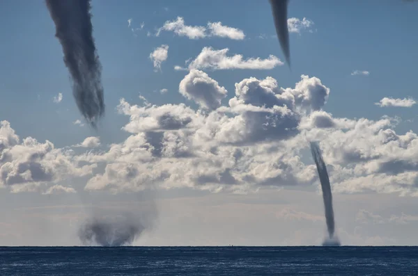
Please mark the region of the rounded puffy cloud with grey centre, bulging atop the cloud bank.
[[189, 74], [180, 81], [178, 90], [187, 99], [192, 99], [203, 108], [216, 109], [226, 97], [226, 89], [219, 86], [208, 74], [199, 70], [190, 70]]

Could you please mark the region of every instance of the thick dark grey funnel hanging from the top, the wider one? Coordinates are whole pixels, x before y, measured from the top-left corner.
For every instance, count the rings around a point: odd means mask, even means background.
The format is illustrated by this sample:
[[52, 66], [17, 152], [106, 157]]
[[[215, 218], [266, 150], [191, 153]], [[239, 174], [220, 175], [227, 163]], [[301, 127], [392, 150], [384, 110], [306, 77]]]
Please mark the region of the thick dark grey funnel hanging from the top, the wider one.
[[90, 0], [46, 0], [70, 71], [72, 94], [92, 127], [104, 114], [102, 66], [93, 40]]

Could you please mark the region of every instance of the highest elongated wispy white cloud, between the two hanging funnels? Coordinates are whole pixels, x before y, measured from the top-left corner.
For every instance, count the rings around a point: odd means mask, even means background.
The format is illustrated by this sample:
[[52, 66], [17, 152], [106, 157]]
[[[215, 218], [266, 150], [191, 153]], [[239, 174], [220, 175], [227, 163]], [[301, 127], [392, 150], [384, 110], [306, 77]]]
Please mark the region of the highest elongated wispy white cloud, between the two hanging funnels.
[[192, 40], [207, 37], [230, 38], [232, 40], [243, 40], [245, 38], [242, 30], [224, 26], [222, 22], [208, 22], [207, 28], [205, 26], [187, 26], [183, 17], [177, 17], [173, 21], [166, 21], [158, 29], [156, 36], [159, 36], [161, 31], [172, 31], [178, 36], [186, 36]]

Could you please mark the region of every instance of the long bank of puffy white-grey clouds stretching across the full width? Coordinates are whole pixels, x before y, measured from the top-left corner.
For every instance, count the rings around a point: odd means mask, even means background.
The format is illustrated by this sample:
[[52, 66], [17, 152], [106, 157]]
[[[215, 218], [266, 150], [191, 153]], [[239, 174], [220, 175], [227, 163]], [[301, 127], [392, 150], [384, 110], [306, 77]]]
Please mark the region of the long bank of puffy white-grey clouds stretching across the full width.
[[[302, 75], [291, 87], [281, 87], [271, 76], [249, 77], [233, 87], [228, 96], [215, 79], [192, 69], [179, 92], [196, 102], [196, 108], [121, 99], [116, 110], [129, 118], [122, 128], [128, 137], [101, 150], [56, 148], [30, 137], [20, 140], [3, 121], [0, 185], [14, 193], [42, 193], [84, 176], [84, 189], [111, 193], [147, 188], [213, 193], [251, 193], [270, 186], [319, 188], [308, 150], [309, 141], [319, 140], [334, 194], [418, 196], [418, 135], [397, 133], [399, 118], [335, 117], [323, 110], [331, 91], [315, 76]], [[385, 223], [391, 219], [369, 215], [363, 212], [360, 218]], [[412, 218], [397, 215], [392, 222], [406, 220]]]

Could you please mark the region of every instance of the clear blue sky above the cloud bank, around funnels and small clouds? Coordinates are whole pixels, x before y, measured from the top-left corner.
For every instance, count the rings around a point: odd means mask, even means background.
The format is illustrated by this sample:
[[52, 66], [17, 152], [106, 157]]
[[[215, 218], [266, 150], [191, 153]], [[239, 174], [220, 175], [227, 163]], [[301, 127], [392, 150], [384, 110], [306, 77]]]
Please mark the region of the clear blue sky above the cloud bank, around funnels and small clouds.
[[[12, 122], [23, 136], [49, 139], [58, 145], [75, 143], [88, 130], [81, 131], [71, 124], [80, 116], [72, 100], [61, 45], [54, 38], [54, 24], [43, 1], [3, 1], [1, 5], [0, 28], [5, 34], [0, 69], [0, 89], [5, 95], [0, 103], [1, 118]], [[417, 5], [401, 1], [292, 1], [289, 17], [307, 17], [317, 31], [291, 34], [291, 72], [288, 67], [280, 66], [273, 70], [218, 71], [211, 76], [230, 95], [234, 83], [249, 76], [274, 76], [283, 87], [295, 83], [300, 74], [318, 76], [332, 89], [325, 110], [333, 115], [376, 119], [396, 113], [412, 118], [415, 108], [383, 111], [373, 103], [383, 96], [413, 97], [417, 93], [413, 70], [418, 55], [415, 50], [418, 38], [413, 35], [418, 20], [414, 17], [416, 12]], [[123, 5], [118, 1], [93, 1], [94, 36], [103, 66], [107, 106], [104, 119], [107, 127], [101, 129], [105, 137], [114, 136], [112, 132], [124, 122], [114, 114], [114, 106], [121, 97], [135, 102], [141, 92], [155, 104], [182, 102], [178, 83], [184, 72], [173, 72], [172, 68], [197, 56], [205, 46], [228, 47], [231, 53], [245, 57], [267, 58], [273, 54], [283, 60], [277, 39], [257, 38], [262, 33], [274, 35], [270, 13], [268, 1], [202, 1], [199, 4], [125, 1]], [[177, 16], [192, 26], [220, 21], [242, 29], [247, 38], [191, 41], [171, 32], [163, 32], [158, 38], [146, 36], [147, 31], [155, 33], [165, 21]], [[127, 28], [129, 18], [134, 28], [145, 23], [137, 37]], [[156, 74], [148, 56], [161, 44], [169, 44], [170, 55], [162, 72]], [[350, 76], [353, 70], [367, 70], [371, 74], [353, 77]], [[162, 88], [169, 89], [164, 97], [154, 92]], [[58, 92], [63, 93], [59, 106], [52, 104], [52, 97]], [[404, 127], [415, 129], [413, 124]]]

